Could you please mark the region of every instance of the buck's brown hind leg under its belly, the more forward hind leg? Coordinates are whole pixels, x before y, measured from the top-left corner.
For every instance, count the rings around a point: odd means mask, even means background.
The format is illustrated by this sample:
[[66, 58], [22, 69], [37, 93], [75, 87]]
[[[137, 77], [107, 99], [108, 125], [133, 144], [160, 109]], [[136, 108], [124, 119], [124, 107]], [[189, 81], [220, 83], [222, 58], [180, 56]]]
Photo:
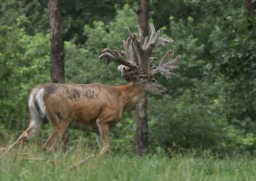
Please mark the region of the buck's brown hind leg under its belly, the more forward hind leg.
[[52, 152], [57, 141], [60, 140], [63, 133], [66, 131], [69, 122], [69, 120], [65, 120], [57, 124], [54, 124], [51, 135], [49, 136], [48, 140], [44, 143], [43, 148], [45, 151]]

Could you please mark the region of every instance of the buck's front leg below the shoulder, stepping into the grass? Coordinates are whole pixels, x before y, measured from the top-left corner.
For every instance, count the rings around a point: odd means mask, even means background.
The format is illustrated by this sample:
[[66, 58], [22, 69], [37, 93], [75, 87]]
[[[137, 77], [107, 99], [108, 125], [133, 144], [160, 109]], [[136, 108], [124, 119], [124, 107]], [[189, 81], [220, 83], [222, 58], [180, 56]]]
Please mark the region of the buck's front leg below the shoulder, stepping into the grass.
[[[97, 141], [99, 148], [100, 148], [100, 155], [102, 156], [108, 151], [109, 148], [109, 125], [108, 124], [99, 124], [99, 119], [96, 120], [97, 128], [99, 134], [96, 133], [96, 140], [97, 137], [100, 141]], [[100, 143], [99, 143], [100, 142]]]

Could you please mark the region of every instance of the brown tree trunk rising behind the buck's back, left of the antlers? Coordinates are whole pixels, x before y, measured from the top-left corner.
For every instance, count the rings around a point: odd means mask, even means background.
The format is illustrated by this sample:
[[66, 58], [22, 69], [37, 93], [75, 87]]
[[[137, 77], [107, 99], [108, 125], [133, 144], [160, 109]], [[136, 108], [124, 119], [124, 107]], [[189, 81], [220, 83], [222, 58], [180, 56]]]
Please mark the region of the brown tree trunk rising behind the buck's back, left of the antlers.
[[[64, 43], [62, 34], [61, 1], [49, 0], [49, 25], [51, 31], [51, 82], [65, 83]], [[61, 137], [62, 150], [66, 152], [68, 129]]]

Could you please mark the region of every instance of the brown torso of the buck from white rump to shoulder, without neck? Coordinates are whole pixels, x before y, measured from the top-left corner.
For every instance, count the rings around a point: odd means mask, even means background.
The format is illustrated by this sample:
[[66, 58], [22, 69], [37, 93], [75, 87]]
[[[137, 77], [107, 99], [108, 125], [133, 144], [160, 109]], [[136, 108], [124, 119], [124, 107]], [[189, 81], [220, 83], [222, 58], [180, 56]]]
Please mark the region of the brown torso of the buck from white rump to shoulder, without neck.
[[120, 120], [123, 109], [122, 91], [100, 83], [45, 83], [29, 95], [29, 111], [35, 110], [51, 124], [73, 120], [95, 128], [97, 119]]

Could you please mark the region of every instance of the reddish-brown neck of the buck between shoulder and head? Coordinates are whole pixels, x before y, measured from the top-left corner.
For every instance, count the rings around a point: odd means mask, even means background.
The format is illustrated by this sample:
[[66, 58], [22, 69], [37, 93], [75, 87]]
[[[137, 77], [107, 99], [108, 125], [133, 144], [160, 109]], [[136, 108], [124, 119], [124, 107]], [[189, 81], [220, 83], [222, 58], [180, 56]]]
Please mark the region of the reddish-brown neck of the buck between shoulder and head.
[[140, 83], [130, 82], [126, 85], [118, 86], [118, 88], [122, 92], [124, 99], [124, 112], [136, 105], [141, 96], [145, 93], [145, 88], [141, 86]]

